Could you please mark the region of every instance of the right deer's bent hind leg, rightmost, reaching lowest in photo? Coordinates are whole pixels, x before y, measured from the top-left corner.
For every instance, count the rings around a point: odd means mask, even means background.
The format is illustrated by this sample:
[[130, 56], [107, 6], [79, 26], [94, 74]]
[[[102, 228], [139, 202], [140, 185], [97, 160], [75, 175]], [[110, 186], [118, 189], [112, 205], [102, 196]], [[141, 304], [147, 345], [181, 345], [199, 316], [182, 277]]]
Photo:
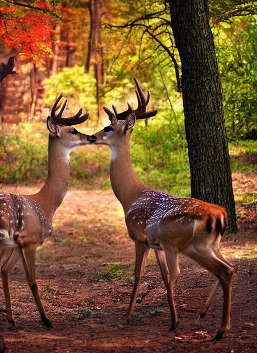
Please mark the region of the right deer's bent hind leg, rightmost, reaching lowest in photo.
[[231, 308], [231, 288], [233, 269], [227, 263], [214, 255], [214, 252], [197, 251], [192, 248], [184, 253], [195, 260], [199, 265], [213, 273], [218, 279], [223, 289], [223, 314], [220, 329], [216, 333], [215, 339], [219, 340], [226, 328], [230, 327], [230, 308]]

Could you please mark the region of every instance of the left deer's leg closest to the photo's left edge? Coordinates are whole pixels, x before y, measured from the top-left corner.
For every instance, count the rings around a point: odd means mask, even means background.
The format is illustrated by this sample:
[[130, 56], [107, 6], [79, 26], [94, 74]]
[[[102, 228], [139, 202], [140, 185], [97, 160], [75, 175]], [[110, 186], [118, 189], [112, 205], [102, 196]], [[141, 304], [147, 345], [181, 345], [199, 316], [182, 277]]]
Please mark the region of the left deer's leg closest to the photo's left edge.
[[[11, 253], [11, 254], [10, 254]], [[15, 326], [15, 320], [13, 319], [12, 313], [12, 304], [11, 304], [11, 296], [10, 296], [10, 289], [9, 289], [9, 273], [19, 260], [20, 253], [19, 249], [11, 249], [8, 251], [8, 259], [1, 267], [2, 272], [2, 281], [3, 281], [3, 288], [5, 293], [5, 301], [6, 301], [6, 311], [7, 311], [7, 318], [8, 321]]]

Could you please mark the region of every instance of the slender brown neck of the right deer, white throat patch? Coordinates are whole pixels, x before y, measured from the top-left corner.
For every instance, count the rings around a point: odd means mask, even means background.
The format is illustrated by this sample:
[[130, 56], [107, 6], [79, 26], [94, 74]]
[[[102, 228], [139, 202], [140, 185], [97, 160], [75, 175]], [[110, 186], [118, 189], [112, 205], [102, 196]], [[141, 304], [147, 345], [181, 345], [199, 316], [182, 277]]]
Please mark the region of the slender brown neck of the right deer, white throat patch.
[[111, 146], [110, 182], [116, 198], [124, 213], [137, 200], [143, 190], [148, 189], [138, 178], [131, 163], [130, 134], [126, 134], [125, 143]]

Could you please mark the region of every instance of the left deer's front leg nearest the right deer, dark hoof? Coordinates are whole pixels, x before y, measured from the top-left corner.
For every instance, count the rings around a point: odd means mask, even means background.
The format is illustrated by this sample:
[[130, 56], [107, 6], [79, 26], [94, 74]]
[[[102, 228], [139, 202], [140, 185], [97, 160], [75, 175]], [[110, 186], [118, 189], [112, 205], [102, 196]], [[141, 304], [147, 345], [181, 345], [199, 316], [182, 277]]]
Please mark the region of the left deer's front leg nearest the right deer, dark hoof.
[[36, 280], [36, 270], [35, 270], [36, 248], [37, 246], [35, 245], [20, 248], [20, 253], [21, 253], [26, 277], [27, 277], [30, 289], [32, 291], [32, 294], [34, 296], [34, 299], [36, 301], [38, 310], [40, 312], [41, 319], [44, 325], [46, 325], [48, 328], [51, 328], [52, 324], [51, 324], [51, 321], [47, 318], [45, 308], [41, 302], [41, 298], [38, 290], [38, 284]]

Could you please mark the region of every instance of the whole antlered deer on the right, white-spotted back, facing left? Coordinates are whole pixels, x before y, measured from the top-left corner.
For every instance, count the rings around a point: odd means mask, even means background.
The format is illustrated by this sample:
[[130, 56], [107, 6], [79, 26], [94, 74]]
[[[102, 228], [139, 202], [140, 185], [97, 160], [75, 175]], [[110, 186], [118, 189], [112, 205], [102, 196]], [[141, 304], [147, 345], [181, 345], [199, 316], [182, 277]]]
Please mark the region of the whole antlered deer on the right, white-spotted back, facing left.
[[157, 111], [146, 112], [150, 93], [142, 90], [137, 79], [135, 83], [138, 108], [134, 110], [127, 103], [128, 109], [118, 113], [114, 106], [112, 110], [104, 107], [110, 125], [88, 138], [90, 143], [105, 144], [111, 149], [111, 187], [123, 207], [129, 236], [135, 241], [135, 281], [127, 318], [133, 315], [140, 279], [152, 248], [167, 290], [171, 330], [177, 327], [173, 287], [180, 274], [182, 253], [218, 278], [199, 318], [204, 317], [220, 285], [223, 289], [222, 322], [215, 336], [219, 340], [230, 327], [233, 269], [219, 247], [227, 214], [220, 206], [152, 190], [140, 181], [131, 162], [130, 137], [136, 120], [152, 117]]

